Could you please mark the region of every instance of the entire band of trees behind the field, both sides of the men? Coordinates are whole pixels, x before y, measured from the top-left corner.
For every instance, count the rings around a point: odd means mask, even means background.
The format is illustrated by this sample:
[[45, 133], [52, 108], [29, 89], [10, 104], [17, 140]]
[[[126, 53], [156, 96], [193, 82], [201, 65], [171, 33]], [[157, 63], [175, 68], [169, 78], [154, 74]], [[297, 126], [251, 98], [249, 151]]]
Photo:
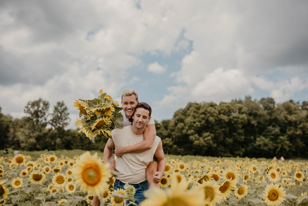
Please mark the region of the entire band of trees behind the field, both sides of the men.
[[[0, 107], [0, 149], [103, 151], [107, 138], [91, 141], [79, 129], [64, 129], [70, 120], [63, 101], [53, 113], [49, 106], [41, 98], [29, 101], [20, 119], [2, 114]], [[276, 104], [271, 97], [247, 96], [219, 104], [190, 102], [155, 126], [168, 154], [308, 158], [307, 101]]]

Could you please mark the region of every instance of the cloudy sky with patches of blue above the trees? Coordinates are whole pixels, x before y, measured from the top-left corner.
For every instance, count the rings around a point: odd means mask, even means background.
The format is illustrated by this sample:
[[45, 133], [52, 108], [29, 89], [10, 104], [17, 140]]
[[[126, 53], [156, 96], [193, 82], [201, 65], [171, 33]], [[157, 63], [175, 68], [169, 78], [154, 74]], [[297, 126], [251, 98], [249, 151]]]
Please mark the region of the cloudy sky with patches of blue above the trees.
[[[2, 0], [0, 107], [125, 89], [158, 122], [188, 102], [308, 100], [308, 1]], [[120, 103], [121, 105], [121, 103]]]

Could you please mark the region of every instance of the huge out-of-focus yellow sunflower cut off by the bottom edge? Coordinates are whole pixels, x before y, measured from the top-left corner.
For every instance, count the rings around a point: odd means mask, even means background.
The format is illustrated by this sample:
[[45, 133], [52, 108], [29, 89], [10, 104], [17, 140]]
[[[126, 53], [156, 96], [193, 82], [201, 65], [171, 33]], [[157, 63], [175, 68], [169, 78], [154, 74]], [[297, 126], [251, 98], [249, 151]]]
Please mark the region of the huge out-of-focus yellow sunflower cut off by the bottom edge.
[[[174, 175], [174, 174], [173, 174]], [[172, 179], [175, 179], [174, 177]], [[157, 187], [151, 187], [145, 193], [146, 200], [142, 201], [140, 206], [166, 206], [166, 205], [185, 205], [201, 206], [205, 200], [203, 189], [191, 189], [186, 191], [188, 182], [172, 183], [171, 188], [162, 190]]]

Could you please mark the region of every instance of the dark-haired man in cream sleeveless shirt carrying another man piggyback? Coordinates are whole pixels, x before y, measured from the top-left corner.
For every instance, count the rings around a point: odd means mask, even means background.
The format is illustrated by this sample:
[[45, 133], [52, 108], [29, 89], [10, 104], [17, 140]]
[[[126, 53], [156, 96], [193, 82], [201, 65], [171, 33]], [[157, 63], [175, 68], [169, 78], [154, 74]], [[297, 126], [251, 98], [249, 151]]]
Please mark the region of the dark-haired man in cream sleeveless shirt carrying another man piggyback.
[[[151, 107], [146, 103], [138, 103], [133, 115], [133, 123], [123, 129], [112, 131], [112, 139], [108, 139], [105, 150], [112, 150], [117, 145], [131, 146], [143, 141], [143, 133], [147, 123], [151, 119]], [[104, 150], [104, 154], [105, 154]], [[106, 154], [110, 152], [106, 150]], [[121, 157], [115, 156], [115, 169], [118, 175], [115, 176], [114, 190], [123, 188], [129, 183], [136, 188], [135, 202], [139, 204], [145, 199], [143, 192], [148, 189], [149, 184], [146, 177], [146, 168], [153, 161], [153, 156], [158, 162], [158, 171], [154, 178], [161, 179], [164, 174], [166, 160], [162, 148], [161, 139], [156, 136], [152, 148], [140, 153], [125, 153]]]

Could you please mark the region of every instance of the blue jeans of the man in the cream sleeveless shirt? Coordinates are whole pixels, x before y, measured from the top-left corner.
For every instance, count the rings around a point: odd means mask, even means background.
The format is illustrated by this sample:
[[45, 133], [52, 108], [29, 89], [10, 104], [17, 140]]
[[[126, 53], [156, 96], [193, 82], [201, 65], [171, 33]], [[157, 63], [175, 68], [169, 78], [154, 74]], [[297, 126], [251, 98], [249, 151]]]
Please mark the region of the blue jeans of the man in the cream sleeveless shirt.
[[[124, 189], [124, 185], [125, 185], [125, 183], [121, 182], [118, 179], [115, 179], [113, 190], [117, 190], [118, 188]], [[149, 183], [148, 183], [147, 180], [145, 180], [144, 182], [141, 182], [141, 183], [138, 183], [138, 184], [130, 184], [130, 185], [134, 186], [135, 189], [136, 189], [136, 193], [134, 195], [134, 198], [136, 199], [135, 203], [139, 204], [142, 200], [145, 199], [143, 192], [146, 191], [149, 188]], [[129, 203], [129, 201], [126, 202], [126, 204], [128, 204], [128, 203]]]

